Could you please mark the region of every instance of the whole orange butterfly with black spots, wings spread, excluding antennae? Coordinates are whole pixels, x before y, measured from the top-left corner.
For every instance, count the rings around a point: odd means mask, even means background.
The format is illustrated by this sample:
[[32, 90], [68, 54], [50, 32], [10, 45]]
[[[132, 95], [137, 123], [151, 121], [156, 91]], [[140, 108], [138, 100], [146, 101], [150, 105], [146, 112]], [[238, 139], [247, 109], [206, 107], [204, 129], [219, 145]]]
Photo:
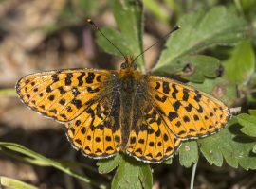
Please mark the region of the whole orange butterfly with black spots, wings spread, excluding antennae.
[[182, 141], [222, 129], [229, 108], [167, 77], [144, 75], [131, 57], [119, 71], [64, 69], [22, 77], [21, 100], [64, 124], [72, 146], [102, 159], [119, 151], [146, 163], [174, 155]]

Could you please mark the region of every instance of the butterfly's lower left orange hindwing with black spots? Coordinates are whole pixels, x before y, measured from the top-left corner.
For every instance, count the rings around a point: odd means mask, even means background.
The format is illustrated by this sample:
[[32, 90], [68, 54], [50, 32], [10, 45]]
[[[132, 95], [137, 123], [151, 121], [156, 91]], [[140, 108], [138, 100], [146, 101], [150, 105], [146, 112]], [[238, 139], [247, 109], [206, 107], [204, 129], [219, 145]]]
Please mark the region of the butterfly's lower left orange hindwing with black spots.
[[69, 141], [92, 158], [106, 158], [119, 151], [119, 95], [115, 92], [98, 99], [74, 120], [67, 122]]

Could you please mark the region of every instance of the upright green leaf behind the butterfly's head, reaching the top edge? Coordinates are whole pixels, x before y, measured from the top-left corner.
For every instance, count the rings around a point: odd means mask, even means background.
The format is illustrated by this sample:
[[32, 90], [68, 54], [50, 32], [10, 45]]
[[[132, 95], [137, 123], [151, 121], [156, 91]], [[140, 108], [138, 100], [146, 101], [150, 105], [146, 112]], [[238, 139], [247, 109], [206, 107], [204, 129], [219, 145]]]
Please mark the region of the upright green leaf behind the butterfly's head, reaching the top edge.
[[[142, 3], [139, 0], [129, 1], [113, 1], [114, 16], [119, 27], [119, 31], [111, 29], [107, 32], [106, 36], [114, 43], [125, 56], [137, 56], [143, 51], [142, 43]], [[129, 18], [129, 19], [128, 19]], [[110, 48], [107, 42], [100, 34], [97, 35], [97, 42], [106, 52], [120, 55], [117, 50]], [[108, 43], [108, 44], [107, 44]], [[107, 46], [107, 47], [105, 47]], [[137, 59], [137, 66], [141, 71], [144, 71], [143, 56]]]

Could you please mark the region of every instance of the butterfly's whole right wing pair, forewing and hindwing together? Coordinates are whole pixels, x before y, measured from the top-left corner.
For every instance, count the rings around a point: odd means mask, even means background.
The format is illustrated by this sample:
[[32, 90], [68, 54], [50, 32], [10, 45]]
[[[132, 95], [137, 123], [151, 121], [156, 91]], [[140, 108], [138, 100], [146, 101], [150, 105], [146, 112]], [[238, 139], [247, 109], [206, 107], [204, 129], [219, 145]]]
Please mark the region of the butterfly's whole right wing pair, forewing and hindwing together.
[[144, 76], [138, 89], [126, 151], [143, 162], [162, 162], [181, 141], [210, 135], [229, 121], [222, 102], [172, 79]]

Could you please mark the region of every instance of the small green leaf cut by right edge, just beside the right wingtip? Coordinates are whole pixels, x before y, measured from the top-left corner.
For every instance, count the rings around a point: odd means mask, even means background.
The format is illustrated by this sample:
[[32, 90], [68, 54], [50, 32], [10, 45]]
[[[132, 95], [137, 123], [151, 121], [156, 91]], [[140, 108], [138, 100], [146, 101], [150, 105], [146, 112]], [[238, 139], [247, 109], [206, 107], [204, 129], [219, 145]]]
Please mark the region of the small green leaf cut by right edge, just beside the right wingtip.
[[238, 123], [243, 126], [241, 131], [248, 136], [256, 137], [256, 116], [242, 113], [237, 116]]

